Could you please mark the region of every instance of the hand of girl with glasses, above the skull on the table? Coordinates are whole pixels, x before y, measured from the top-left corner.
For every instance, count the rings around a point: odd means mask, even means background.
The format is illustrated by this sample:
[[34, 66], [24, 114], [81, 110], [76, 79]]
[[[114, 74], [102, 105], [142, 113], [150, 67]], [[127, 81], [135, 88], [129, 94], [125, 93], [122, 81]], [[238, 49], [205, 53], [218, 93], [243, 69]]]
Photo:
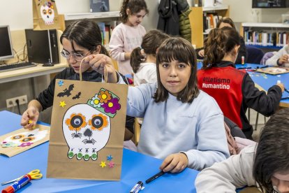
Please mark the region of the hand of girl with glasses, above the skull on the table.
[[32, 129], [36, 126], [39, 110], [35, 106], [29, 106], [22, 114], [21, 125], [24, 129]]

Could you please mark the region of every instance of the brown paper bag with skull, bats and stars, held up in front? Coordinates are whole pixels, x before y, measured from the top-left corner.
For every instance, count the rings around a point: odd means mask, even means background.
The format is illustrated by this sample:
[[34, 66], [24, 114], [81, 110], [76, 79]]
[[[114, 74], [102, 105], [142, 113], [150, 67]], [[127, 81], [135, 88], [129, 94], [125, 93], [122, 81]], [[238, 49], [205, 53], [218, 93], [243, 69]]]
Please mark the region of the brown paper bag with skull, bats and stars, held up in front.
[[120, 179], [127, 90], [56, 80], [47, 178]]

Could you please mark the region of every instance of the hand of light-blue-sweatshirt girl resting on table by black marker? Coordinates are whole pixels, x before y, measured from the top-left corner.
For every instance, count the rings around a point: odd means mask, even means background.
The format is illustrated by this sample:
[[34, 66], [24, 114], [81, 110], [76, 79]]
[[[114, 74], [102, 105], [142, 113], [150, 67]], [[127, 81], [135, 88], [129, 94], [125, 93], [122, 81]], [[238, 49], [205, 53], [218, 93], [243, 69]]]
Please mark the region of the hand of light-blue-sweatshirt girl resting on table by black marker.
[[160, 166], [164, 172], [179, 173], [188, 166], [188, 157], [184, 153], [171, 154], [165, 158]]

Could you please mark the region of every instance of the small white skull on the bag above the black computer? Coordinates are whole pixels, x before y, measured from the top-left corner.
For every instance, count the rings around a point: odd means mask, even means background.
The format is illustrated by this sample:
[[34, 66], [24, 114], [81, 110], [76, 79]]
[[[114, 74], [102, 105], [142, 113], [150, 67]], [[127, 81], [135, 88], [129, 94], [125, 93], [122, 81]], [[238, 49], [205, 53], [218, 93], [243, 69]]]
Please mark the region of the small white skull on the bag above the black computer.
[[54, 1], [40, 1], [38, 4], [40, 6], [40, 15], [47, 25], [54, 24], [54, 6], [52, 2]]

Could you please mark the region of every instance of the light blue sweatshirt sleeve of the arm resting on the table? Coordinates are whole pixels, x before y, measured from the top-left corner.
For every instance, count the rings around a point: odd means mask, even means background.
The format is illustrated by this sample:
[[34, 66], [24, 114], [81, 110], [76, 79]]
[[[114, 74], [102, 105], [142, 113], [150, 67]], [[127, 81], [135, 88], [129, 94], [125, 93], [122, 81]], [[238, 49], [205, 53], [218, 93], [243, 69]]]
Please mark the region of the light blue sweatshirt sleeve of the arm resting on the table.
[[197, 170], [230, 157], [221, 109], [211, 97], [200, 106], [197, 149], [184, 152], [188, 157], [188, 167]]

